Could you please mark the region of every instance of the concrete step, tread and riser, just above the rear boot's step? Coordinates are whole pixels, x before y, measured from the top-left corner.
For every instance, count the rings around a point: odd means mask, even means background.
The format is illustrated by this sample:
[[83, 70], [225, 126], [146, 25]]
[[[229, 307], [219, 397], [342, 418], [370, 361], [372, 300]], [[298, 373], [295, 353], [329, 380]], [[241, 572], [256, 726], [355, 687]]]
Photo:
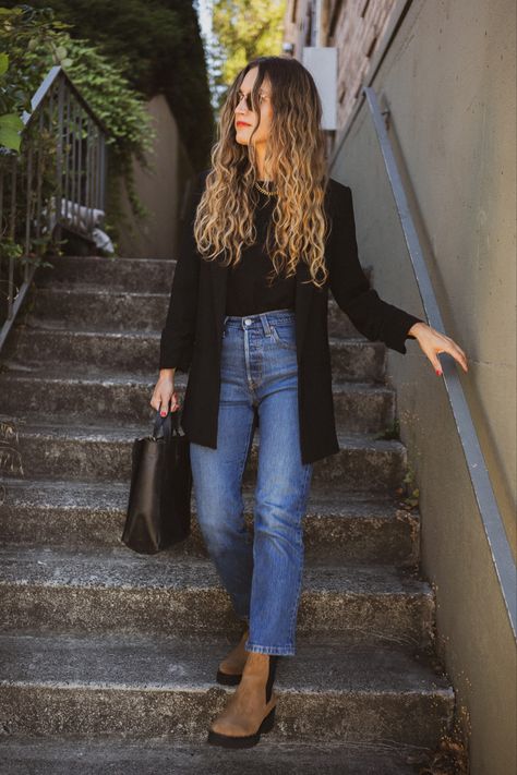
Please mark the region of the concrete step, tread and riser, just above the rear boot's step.
[[[38, 632], [184, 633], [239, 630], [212, 560], [172, 549], [0, 548], [0, 629]], [[434, 593], [392, 566], [306, 560], [299, 632], [339, 632], [363, 643], [432, 642]]]

